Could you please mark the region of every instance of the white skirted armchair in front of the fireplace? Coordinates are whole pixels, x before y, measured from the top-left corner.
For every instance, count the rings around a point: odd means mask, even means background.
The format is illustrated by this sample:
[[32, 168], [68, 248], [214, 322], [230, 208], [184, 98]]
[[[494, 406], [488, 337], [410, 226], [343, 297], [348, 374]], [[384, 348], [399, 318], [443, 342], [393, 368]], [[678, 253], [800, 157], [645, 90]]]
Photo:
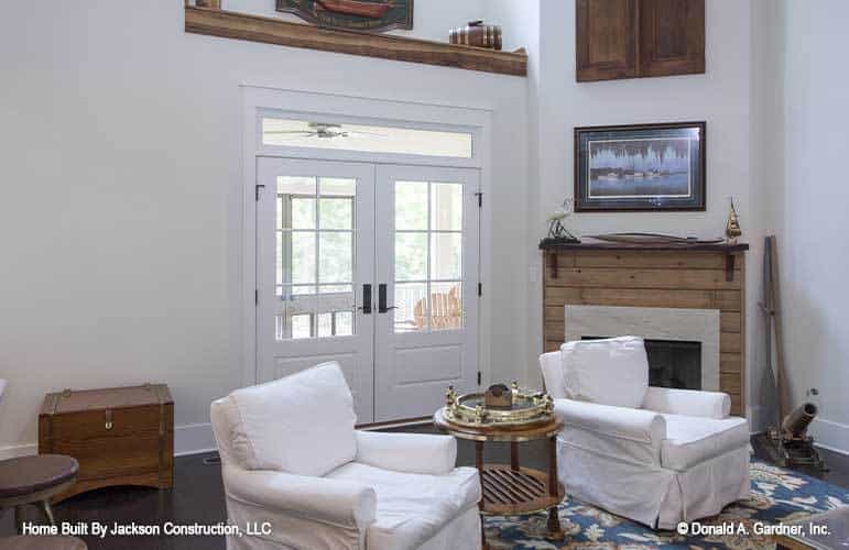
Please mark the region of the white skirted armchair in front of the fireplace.
[[649, 386], [643, 339], [566, 342], [540, 364], [570, 495], [662, 529], [749, 495], [745, 419], [727, 394]]

